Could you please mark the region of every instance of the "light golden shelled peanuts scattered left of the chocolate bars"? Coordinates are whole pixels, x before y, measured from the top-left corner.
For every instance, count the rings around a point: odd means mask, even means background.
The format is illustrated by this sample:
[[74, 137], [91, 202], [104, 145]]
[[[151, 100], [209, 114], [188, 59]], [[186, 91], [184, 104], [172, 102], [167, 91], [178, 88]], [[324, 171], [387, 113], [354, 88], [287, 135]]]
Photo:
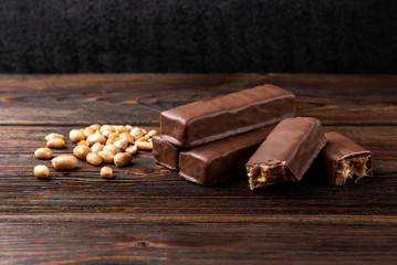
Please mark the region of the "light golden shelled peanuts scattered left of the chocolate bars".
[[[124, 167], [133, 160], [138, 150], [152, 150], [152, 137], [157, 135], [156, 130], [146, 131], [130, 125], [91, 125], [82, 129], [72, 129], [69, 138], [76, 144], [73, 155], [61, 155], [51, 160], [54, 169], [74, 169], [79, 159], [86, 160], [93, 166], [101, 163], [114, 163], [116, 167]], [[50, 148], [65, 147], [65, 137], [52, 132], [45, 136], [46, 148], [39, 148], [34, 156], [39, 159], [51, 159]], [[34, 167], [34, 176], [45, 179], [50, 170], [44, 165]], [[101, 169], [101, 177], [113, 179], [113, 170], [109, 167]]]

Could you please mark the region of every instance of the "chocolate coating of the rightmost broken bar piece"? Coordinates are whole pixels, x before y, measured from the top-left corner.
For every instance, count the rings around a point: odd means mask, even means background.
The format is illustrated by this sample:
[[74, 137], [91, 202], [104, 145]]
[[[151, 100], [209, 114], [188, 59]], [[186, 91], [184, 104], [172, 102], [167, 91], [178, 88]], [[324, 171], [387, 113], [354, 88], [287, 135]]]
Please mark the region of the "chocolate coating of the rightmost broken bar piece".
[[368, 176], [373, 176], [373, 155], [370, 151], [358, 146], [352, 139], [336, 132], [325, 132], [327, 144], [321, 152], [321, 160], [326, 171], [328, 184], [335, 184], [336, 171], [343, 159], [351, 159], [359, 156], [369, 156], [367, 161]]

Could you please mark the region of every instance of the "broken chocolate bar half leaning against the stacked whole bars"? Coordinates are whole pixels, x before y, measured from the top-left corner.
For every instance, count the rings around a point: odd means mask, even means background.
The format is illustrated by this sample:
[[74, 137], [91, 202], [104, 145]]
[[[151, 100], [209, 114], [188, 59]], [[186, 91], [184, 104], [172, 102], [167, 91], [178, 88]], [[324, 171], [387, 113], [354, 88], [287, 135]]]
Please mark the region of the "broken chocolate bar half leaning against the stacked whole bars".
[[245, 165], [251, 190], [300, 181], [325, 144], [318, 119], [283, 119]]

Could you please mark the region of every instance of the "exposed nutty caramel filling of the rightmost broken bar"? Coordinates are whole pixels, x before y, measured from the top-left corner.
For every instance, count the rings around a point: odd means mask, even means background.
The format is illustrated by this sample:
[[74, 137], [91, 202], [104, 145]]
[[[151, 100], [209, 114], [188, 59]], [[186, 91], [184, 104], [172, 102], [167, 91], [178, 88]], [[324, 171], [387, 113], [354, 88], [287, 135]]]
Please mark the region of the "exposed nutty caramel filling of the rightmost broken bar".
[[341, 160], [337, 166], [335, 186], [345, 184], [346, 180], [353, 179], [353, 177], [356, 177], [356, 181], [358, 181], [361, 178], [369, 176], [367, 167], [369, 157], [369, 155], [365, 155]]

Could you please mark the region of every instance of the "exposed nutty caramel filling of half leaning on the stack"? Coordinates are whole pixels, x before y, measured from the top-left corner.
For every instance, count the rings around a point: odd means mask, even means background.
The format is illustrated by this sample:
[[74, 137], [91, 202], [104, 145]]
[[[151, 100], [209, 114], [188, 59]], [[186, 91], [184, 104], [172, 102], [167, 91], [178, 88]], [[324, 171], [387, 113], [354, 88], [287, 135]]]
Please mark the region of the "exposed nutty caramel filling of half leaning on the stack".
[[250, 189], [265, 188], [279, 182], [294, 182], [295, 178], [286, 173], [285, 161], [274, 165], [253, 165], [247, 167]]

